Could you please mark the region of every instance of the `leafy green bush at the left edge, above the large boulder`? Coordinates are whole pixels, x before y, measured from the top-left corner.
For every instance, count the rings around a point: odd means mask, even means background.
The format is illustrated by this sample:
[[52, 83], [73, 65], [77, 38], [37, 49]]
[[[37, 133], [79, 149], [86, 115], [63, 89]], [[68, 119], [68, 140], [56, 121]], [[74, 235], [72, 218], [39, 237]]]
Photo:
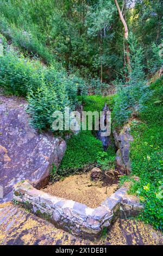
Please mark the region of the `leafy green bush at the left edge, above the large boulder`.
[[39, 86], [41, 66], [29, 59], [18, 58], [17, 54], [10, 51], [1, 57], [0, 83], [5, 92], [15, 95], [27, 95], [29, 87]]

